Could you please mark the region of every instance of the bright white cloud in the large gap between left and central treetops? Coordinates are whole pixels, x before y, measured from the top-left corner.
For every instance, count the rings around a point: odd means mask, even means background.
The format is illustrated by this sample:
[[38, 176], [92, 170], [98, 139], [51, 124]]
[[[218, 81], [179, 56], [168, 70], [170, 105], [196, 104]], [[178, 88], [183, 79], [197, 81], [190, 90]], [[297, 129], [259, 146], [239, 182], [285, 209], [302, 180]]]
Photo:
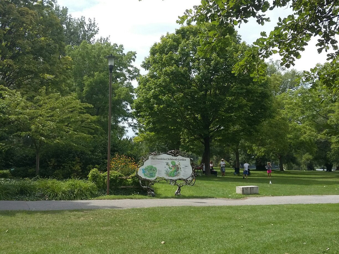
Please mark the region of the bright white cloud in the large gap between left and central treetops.
[[[173, 33], [180, 25], [178, 16], [186, 9], [193, 8], [200, 0], [58, 0], [61, 6], [69, 6], [72, 17], [95, 18], [99, 27], [99, 37], [110, 37], [112, 43], [122, 44], [126, 51], [136, 51], [136, 66], [148, 56], [149, 49], [162, 35]], [[81, 4], [80, 4], [81, 3]], [[81, 11], [78, 11], [78, 4]], [[142, 70], [142, 73], [145, 73]]]

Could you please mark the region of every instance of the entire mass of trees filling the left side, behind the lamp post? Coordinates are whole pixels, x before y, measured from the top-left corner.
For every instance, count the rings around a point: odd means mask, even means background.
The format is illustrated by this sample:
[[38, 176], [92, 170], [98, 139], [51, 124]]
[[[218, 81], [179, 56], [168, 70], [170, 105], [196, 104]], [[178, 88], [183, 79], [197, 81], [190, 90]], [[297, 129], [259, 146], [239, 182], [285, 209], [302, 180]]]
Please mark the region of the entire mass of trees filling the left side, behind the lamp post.
[[95, 42], [97, 33], [95, 20], [73, 18], [55, 0], [1, 1], [1, 168], [15, 168], [16, 177], [59, 179], [86, 176], [93, 165], [103, 168], [108, 115], [104, 57], [112, 53], [118, 59], [111, 151], [140, 157], [132, 141], [122, 138], [124, 123], [131, 123], [131, 82], [139, 75], [133, 66], [136, 53], [125, 53], [107, 38]]

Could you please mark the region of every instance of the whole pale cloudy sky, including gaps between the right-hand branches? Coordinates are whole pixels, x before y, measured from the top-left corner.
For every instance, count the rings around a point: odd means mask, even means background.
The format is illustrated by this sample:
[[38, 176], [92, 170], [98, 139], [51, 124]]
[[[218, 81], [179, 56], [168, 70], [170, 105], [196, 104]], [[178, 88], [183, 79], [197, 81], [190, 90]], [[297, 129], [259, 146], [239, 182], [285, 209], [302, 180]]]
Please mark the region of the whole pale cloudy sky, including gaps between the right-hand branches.
[[[201, 0], [57, 0], [60, 6], [68, 8], [73, 18], [84, 16], [95, 19], [99, 28], [99, 37], [109, 37], [112, 43], [122, 44], [125, 52], [135, 51], [137, 59], [135, 66], [141, 74], [146, 71], [140, 67], [142, 61], [148, 56], [149, 49], [154, 43], [160, 41], [162, 35], [174, 33], [180, 27], [177, 24], [178, 16], [182, 16], [186, 9], [200, 4]], [[279, 16], [281, 18], [290, 14], [290, 10], [280, 8], [270, 12], [270, 23], [264, 26], [250, 20], [242, 24], [238, 33], [247, 44], [252, 44], [260, 37], [260, 32], [267, 34], [273, 30]], [[309, 46], [301, 52], [301, 58], [295, 61], [294, 69], [298, 71], [310, 70], [317, 63], [326, 61], [326, 54], [317, 53], [316, 39], [309, 42]], [[279, 55], [273, 60], [279, 59]], [[133, 82], [137, 86], [137, 82]], [[134, 133], [129, 130], [127, 135]]]

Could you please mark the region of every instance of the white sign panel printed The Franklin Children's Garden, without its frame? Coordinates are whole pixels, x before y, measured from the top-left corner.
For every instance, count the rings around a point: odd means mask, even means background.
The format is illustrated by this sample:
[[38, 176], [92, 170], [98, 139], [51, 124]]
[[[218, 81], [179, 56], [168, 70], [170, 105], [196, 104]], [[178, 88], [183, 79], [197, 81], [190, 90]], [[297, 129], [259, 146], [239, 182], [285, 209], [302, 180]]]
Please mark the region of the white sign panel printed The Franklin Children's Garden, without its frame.
[[138, 176], [151, 181], [157, 178], [185, 180], [192, 176], [191, 159], [168, 153], [159, 155], [153, 153], [138, 168]]

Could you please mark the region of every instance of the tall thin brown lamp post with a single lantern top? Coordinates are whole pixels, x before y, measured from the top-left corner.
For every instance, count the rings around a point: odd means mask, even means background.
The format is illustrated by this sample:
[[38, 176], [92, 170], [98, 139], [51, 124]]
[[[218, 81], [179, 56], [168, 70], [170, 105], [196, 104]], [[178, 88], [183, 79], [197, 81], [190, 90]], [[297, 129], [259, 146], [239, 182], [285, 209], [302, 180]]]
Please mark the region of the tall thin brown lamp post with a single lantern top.
[[108, 102], [108, 151], [107, 151], [107, 195], [109, 195], [109, 168], [111, 167], [111, 118], [112, 118], [112, 72], [115, 56], [112, 54], [105, 57], [108, 59], [109, 68], [109, 102]]

